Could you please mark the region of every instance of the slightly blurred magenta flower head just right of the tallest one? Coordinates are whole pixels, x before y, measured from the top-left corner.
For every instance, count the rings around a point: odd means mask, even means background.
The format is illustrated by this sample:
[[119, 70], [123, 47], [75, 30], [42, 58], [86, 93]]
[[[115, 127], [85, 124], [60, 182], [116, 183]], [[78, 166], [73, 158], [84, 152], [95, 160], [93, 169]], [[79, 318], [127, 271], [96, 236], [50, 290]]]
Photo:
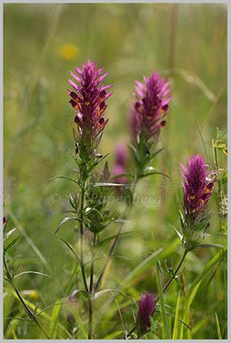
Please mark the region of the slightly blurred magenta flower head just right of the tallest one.
[[156, 143], [160, 128], [166, 126], [164, 119], [168, 112], [168, 103], [171, 96], [169, 82], [166, 77], [160, 78], [158, 73], [146, 78], [142, 84], [136, 81], [136, 102], [133, 104], [131, 114], [132, 140], [138, 144], [139, 140], [147, 143]]

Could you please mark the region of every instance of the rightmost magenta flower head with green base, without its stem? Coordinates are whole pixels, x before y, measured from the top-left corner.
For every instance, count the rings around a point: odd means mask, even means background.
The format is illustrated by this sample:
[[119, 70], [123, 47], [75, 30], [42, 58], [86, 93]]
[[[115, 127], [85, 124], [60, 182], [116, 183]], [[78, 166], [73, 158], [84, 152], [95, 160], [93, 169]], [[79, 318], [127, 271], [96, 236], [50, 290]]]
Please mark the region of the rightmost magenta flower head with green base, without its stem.
[[[184, 191], [184, 216], [182, 216], [183, 230], [186, 242], [191, 243], [198, 237], [205, 234], [206, 228], [209, 226], [205, 217], [206, 206], [209, 198], [212, 195], [214, 187], [213, 182], [208, 177], [211, 172], [207, 171], [208, 165], [205, 164], [205, 158], [199, 155], [193, 155], [192, 160], [187, 156], [187, 166], [183, 166], [184, 183], [182, 183]], [[184, 217], [184, 218], [183, 218]], [[203, 232], [202, 232], [203, 231]]]

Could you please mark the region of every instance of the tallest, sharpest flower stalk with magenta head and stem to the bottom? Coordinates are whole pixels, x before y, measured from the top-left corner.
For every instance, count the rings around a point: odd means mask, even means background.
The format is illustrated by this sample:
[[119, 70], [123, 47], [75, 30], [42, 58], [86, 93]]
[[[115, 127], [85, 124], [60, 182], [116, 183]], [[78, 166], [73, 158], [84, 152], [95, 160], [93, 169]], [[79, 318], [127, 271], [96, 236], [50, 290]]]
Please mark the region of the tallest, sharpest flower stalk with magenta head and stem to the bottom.
[[[107, 89], [113, 85], [104, 86], [103, 81], [105, 75], [102, 74], [104, 67], [96, 69], [96, 63], [93, 64], [88, 60], [86, 66], [83, 68], [75, 68], [76, 74], [73, 72], [71, 76], [75, 78], [77, 84], [72, 80], [68, 80], [74, 90], [68, 89], [71, 96], [69, 103], [75, 109], [75, 162], [79, 167], [79, 179], [77, 183], [80, 187], [80, 197], [77, 202], [70, 198], [71, 205], [75, 208], [79, 220], [80, 232], [80, 266], [85, 286], [85, 291], [88, 298], [88, 313], [89, 326], [88, 338], [92, 338], [93, 334], [93, 306], [94, 306], [94, 248], [97, 241], [97, 234], [103, 228], [96, 225], [97, 216], [103, 217], [95, 207], [86, 207], [85, 196], [94, 183], [88, 181], [89, 177], [93, 175], [95, 166], [98, 165], [102, 159], [102, 155], [97, 151], [100, 137], [103, 134], [105, 125], [108, 119], [105, 120], [106, 99], [112, 95], [112, 92], [107, 93]], [[94, 213], [94, 214], [93, 214]], [[95, 217], [96, 216], [96, 217]], [[103, 218], [104, 219], [104, 218]], [[93, 225], [95, 224], [95, 227]], [[90, 242], [92, 250], [92, 262], [90, 270], [90, 283], [87, 285], [85, 276], [85, 252], [84, 252], [84, 229], [88, 228], [94, 233], [94, 238]]]

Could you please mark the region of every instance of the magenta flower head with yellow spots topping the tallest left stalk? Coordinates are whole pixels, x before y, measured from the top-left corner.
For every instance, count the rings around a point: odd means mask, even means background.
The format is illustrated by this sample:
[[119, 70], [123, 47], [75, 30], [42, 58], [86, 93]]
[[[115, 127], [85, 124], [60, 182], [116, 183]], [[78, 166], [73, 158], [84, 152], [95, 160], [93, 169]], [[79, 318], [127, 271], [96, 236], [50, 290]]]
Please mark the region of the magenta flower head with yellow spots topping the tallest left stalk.
[[71, 99], [69, 103], [75, 109], [75, 124], [77, 125], [76, 152], [80, 149], [80, 157], [84, 162], [92, 155], [97, 156], [95, 149], [98, 145], [99, 134], [105, 128], [108, 119], [105, 120], [105, 101], [112, 95], [106, 90], [113, 85], [104, 86], [105, 76], [102, 75], [104, 67], [96, 69], [96, 63], [88, 60], [83, 69], [75, 67], [76, 74], [71, 76], [75, 78], [77, 84], [68, 80], [74, 91], [68, 89]]

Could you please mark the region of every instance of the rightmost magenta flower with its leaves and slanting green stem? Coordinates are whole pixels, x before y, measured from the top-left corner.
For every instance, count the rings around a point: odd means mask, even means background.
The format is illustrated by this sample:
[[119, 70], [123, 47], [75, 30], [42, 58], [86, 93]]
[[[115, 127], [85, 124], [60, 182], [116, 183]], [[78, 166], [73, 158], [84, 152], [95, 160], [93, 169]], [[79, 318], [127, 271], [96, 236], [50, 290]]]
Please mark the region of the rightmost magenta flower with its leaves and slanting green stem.
[[[183, 213], [179, 210], [183, 235], [174, 228], [185, 250], [172, 277], [163, 288], [163, 292], [166, 291], [172, 280], [176, 278], [180, 267], [182, 267], [186, 259], [186, 255], [190, 251], [201, 247], [222, 247], [218, 244], [200, 244], [201, 239], [205, 237], [207, 227], [209, 227], [208, 219], [210, 216], [206, 215], [206, 207], [214, 187], [209, 177], [211, 172], [207, 171], [208, 165], [205, 164], [205, 157], [193, 155], [190, 160], [189, 156], [187, 156], [187, 165], [180, 164], [180, 166], [184, 171], [184, 173], [180, 172], [184, 177], [184, 182], [182, 182]], [[159, 297], [156, 298], [156, 301], [158, 299]]]

